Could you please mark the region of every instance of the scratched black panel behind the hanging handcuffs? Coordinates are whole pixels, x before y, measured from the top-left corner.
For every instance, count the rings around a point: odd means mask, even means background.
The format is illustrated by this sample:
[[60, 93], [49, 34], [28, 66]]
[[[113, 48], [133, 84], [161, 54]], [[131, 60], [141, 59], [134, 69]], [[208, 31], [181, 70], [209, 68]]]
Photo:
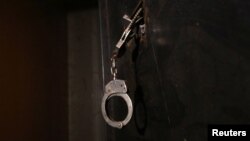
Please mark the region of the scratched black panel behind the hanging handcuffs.
[[[107, 140], [205, 141], [208, 124], [249, 123], [250, 3], [144, 2], [146, 39], [136, 60], [130, 48], [118, 68], [141, 108], [124, 129], [107, 127]], [[100, 1], [105, 82], [111, 50], [126, 25], [122, 16], [135, 5], [133, 0]]]

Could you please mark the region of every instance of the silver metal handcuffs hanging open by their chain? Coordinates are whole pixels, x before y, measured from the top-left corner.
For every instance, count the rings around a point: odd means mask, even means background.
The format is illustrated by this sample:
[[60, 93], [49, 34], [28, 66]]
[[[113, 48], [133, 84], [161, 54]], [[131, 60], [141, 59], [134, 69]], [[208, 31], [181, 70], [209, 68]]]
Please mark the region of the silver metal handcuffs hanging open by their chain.
[[[101, 110], [102, 115], [106, 123], [114, 128], [121, 129], [130, 121], [133, 114], [133, 104], [130, 97], [127, 94], [127, 86], [124, 80], [116, 78], [117, 68], [116, 68], [116, 59], [118, 58], [119, 50], [125, 46], [125, 44], [136, 35], [135, 28], [140, 27], [141, 30], [144, 30], [144, 19], [143, 19], [143, 8], [142, 1], [140, 1], [134, 10], [132, 18], [129, 18], [127, 15], [124, 15], [123, 18], [128, 20], [130, 23], [127, 28], [124, 30], [120, 40], [116, 44], [113, 56], [111, 57], [111, 74], [113, 75], [113, 80], [111, 80], [105, 86], [104, 96], [102, 98]], [[106, 111], [107, 101], [112, 97], [122, 98], [127, 105], [128, 113], [124, 120], [114, 121], [112, 120]]]

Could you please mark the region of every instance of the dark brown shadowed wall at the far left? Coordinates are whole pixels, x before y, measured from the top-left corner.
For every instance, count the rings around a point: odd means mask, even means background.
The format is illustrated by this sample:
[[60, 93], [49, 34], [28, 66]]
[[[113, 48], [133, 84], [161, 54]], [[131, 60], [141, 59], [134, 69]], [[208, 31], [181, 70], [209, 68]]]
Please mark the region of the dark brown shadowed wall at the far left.
[[68, 140], [61, 6], [39, 0], [0, 4], [0, 140]]

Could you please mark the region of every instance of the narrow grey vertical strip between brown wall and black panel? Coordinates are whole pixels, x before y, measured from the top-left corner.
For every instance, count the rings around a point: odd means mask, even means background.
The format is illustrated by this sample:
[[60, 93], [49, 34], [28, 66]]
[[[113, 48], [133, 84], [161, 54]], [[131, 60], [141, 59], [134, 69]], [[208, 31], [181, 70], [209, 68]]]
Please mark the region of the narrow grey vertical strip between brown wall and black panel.
[[68, 13], [69, 141], [105, 139], [98, 9]]

